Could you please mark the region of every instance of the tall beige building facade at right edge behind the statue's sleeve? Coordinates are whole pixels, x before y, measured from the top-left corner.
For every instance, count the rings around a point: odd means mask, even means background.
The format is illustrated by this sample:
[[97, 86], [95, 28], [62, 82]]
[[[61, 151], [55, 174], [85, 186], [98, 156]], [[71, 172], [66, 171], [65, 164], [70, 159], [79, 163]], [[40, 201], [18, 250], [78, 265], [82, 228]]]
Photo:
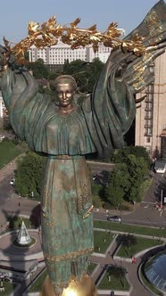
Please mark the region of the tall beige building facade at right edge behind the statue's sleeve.
[[166, 53], [150, 70], [154, 83], [137, 95], [145, 100], [137, 108], [135, 145], [144, 146], [152, 157], [166, 158]]

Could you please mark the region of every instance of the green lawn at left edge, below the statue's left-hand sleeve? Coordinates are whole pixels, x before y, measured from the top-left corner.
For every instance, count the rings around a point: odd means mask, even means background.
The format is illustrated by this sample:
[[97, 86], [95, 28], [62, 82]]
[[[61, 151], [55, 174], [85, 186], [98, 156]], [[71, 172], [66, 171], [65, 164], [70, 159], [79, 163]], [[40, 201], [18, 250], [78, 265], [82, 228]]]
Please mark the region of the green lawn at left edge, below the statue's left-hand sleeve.
[[3, 141], [0, 143], [0, 169], [22, 153], [21, 146], [12, 141]]

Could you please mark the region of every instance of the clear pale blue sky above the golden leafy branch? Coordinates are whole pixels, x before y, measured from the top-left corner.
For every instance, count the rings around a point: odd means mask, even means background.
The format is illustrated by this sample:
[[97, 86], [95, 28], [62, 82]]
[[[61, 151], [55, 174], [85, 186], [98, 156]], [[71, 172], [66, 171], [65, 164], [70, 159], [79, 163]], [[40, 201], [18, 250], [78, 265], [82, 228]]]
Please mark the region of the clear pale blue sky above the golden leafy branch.
[[143, 21], [158, 0], [4, 0], [1, 3], [0, 44], [3, 37], [18, 43], [28, 35], [29, 21], [41, 25], [53, 15], [57, 23], [69, 24], [78, 17], [78, 27], [86, 29], [96, 24], [104, 31], [113, 21], [128, 35]]

